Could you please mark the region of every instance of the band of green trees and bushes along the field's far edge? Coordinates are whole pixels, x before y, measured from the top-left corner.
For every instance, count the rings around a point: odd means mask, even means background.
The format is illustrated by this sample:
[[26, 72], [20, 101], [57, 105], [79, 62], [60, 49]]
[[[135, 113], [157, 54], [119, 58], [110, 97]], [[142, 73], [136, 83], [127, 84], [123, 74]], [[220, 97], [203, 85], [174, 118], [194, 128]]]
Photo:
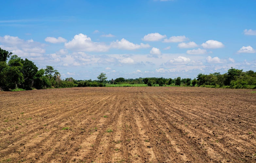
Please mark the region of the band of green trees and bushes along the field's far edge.
[[146, 77], [125, 79], [119, 77], [107, 80], [105, 73], [98, 80], [75, 80], [72, 77], [60, 79], [61, 74], [52, 66], [38, 70], [34, 62], [21, 59], [0, 48], [0, 90], [32, 90], [69, 87], [146, 87], [146, 86], [190, 86], [210, 88], [256, 89], [256, 72], [231, 69], [227, 73], [199, 73], [191, 78]]

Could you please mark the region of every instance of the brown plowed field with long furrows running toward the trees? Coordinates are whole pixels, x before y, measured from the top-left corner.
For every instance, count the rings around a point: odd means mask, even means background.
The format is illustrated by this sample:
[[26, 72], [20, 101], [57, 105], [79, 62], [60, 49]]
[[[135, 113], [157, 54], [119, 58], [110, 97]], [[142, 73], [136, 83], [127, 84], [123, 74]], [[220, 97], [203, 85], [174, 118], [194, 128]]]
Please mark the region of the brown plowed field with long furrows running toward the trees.
[[193, 87], [0, 92], [0, 162], [256, 162], [256, 93]]

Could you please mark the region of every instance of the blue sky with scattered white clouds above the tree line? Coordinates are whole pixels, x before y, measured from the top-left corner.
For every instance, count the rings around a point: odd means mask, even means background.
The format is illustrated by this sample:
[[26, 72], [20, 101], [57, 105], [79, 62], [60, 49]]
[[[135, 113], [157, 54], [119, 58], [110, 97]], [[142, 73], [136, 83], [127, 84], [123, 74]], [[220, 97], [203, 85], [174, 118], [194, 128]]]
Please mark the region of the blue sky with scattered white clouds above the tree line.
[[0, 47], [62, 79], [256, 71], [256, 1], [1, 1]]

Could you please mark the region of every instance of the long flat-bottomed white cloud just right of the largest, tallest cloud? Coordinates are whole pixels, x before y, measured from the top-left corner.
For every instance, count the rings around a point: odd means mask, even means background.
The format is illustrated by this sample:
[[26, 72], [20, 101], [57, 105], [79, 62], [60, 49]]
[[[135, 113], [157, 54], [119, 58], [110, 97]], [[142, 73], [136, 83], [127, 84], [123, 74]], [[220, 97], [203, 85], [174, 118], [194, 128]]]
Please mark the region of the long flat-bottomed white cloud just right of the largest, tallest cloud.
[[149, 44], [144, 44], [141, 43], [139, 44], [134, 44], [132, 42], [129, 42], [125, 39], [122, 39], [121, 41], [116, 40], [111, 42], [111, 47], [117, 48], [117, 49], [125, 49], [125, 50], [134, 50], [134, 49], [140, 49], [140, 48], [148, 48], [150, 47]]

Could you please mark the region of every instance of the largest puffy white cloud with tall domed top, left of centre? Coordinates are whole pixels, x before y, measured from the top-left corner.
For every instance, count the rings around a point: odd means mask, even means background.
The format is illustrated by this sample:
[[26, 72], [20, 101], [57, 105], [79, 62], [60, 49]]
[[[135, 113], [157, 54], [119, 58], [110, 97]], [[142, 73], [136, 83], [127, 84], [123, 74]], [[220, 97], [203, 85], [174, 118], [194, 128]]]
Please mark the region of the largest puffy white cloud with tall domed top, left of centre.
[[65, 48], [74, 51], [106, 52], [110, 47], [100, 42], [93, 42], [90, 37], [80, 33], [75, 35], [72, 41], [66, 42]]

